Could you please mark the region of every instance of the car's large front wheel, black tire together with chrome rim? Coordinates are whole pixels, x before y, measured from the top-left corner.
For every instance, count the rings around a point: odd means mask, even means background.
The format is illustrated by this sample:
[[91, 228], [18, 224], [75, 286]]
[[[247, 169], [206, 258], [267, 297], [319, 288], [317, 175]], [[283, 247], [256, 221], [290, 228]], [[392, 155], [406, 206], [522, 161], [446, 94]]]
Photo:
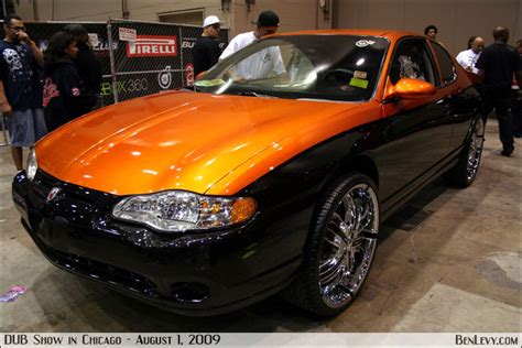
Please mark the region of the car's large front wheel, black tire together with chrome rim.
[[320, 317], [342, 313], [371, 268], [379, 213], [377, 187], [367, 175], [349, 173], [330, 185], [317, 205], [302, 268], [284, 298]]

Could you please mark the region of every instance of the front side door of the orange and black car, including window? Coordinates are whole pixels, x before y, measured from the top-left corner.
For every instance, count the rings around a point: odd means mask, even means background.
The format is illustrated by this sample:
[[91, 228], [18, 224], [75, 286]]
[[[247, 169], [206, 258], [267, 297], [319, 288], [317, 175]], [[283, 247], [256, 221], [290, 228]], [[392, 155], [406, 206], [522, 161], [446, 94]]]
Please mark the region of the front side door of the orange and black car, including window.
[[[385, 121], [385, 173], [381, 195], [407, 192], [414, 182], [435, 167], [449, 151], [452, 123], [441, 93], [441, 78], [434, 57], [424, 37], [398, 43], [390, 61], [388, 84], [402, 77], [417, 78], [435, 85], [435, 95], [418, 99], [383, 101]], [[396, 195], [395, 195], [396, 196]]]

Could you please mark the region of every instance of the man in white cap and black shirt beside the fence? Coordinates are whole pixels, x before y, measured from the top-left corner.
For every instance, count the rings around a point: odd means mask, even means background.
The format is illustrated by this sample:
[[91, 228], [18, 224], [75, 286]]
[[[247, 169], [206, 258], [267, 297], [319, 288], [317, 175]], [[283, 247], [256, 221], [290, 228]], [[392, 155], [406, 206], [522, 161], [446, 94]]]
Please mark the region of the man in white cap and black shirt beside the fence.
[[203, 34], [192, 48], [194, 76], [208, 70], [218, 62], [221, 48], [216, 39], [219, 36], [221, 24], [217, 15], [209, 15], [203, 21]]

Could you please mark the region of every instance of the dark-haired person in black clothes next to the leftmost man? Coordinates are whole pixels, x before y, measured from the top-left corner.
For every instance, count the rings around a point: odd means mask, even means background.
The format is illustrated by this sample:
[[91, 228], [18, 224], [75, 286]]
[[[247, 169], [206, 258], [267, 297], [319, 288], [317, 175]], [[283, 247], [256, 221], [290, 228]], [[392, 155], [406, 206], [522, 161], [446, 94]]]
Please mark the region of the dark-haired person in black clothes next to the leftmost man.
[[48, 131], [87, 113], [96, 98], [87, 93], [76, 72], [73, 58], [76, 42], [66, 32], [57, 32], [48, 42], [44, 65], [45, 122]]

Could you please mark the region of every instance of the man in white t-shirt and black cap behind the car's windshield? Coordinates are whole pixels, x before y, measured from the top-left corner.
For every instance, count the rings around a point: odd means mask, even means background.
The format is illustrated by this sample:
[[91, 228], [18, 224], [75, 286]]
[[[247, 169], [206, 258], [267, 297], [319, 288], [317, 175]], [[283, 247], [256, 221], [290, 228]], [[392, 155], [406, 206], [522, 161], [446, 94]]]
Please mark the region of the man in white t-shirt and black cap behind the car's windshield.
[[[255, 29], [253, 31], [241, 33], [233, 37], [219, 56], [219, 59], [225, 59], [255, 40], [274, 34], [279, 29], [279, 17], [273, 11], [263, 11], [259, 14], [258, 21], [254, 24]], [[285, 73], [279, 47], [261, 50], [239, 62], [232, 69], [236, 78], [246, 80], [269, 78]]]

